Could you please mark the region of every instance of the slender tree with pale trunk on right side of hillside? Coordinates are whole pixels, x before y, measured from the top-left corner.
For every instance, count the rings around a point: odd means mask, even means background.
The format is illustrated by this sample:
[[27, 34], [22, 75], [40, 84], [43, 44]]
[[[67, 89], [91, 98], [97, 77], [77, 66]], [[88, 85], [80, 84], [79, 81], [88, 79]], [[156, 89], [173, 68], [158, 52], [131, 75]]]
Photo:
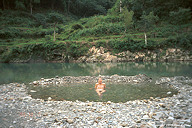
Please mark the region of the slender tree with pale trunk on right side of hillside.
[[158, 19], [158, 16], [155, 16], [153, 12], [150, 12], [149, 15], [146, 15], [144, 12], [144, 14], [141, 16], [140, 26], [144, 31], [145, 44], [147, 44], [146, 32], [155, 26], [155, 23], [158, 21]]

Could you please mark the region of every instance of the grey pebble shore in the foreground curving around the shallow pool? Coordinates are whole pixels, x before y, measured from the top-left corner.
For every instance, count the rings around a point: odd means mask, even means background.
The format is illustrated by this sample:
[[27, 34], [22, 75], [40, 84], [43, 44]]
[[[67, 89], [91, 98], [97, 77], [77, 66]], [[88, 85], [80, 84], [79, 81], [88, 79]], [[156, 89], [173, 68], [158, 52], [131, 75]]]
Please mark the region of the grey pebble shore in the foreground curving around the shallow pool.
[[126, 103], [33, 99], [25, 84], [0, 86], [0, 127], [192, 127], [192, 79], [163, 77], [156, 84], [179, 93]]

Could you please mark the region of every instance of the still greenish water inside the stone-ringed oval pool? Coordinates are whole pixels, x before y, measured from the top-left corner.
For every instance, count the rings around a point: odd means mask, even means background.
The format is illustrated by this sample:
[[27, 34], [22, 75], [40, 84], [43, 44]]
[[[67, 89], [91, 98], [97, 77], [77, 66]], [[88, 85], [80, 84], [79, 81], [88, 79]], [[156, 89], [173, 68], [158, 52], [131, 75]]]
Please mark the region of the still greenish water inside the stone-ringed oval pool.
[[[173, 88], [155, 85], [154, 83], [145, 84], [106, 84], [106, 92], [99, 97], [94, 89], [94, 84], [74, 84], [62, 87], [37, 87], [30, 86], [29, 94], [33, 98], [47, 100], [52, 97], [53, 100], [70, 100], [70, 101], [113, 101], [126, 102], [128, 100], [148, 99], [150, 97], [167, 97], [176, 94]], [[36, 92], [30, 92], [35, 90]], [[171, 94], [167, 94], [171, 92]]]

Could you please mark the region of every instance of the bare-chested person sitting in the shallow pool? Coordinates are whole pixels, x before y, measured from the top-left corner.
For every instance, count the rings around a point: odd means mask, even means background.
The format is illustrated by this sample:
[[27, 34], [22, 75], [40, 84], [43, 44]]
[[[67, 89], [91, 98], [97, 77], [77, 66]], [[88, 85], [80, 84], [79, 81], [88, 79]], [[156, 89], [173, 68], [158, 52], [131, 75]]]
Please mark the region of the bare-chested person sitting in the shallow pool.
[[105, 83], [102, 83], [102, 79], [100, 77], [98, 80], [98, 83], [95, 84], [95, 91], [97, 92], [100, 98], [102, 97], [102, 93], [105, 92], [105, 88], [106, 88], [106, 85]]

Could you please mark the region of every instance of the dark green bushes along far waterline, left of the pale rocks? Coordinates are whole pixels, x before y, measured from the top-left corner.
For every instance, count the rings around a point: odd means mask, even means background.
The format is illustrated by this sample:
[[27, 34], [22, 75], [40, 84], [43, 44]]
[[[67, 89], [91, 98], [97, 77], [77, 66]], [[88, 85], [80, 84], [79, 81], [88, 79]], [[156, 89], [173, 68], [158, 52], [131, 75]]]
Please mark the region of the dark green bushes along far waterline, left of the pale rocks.
[[[30, 58], [41, 58], [45, 61], [55, 60], [61, 54], [78, 58], [85, 55], [89, 50], [88, 44], [77, 42], [65, 43], [42, 43], [10, 47], [8, 52], [2, 55], [3, 62], [10, 62], [14, 59], [28, 60]], [[42, 52], [43, 51], [43, 52]]]

